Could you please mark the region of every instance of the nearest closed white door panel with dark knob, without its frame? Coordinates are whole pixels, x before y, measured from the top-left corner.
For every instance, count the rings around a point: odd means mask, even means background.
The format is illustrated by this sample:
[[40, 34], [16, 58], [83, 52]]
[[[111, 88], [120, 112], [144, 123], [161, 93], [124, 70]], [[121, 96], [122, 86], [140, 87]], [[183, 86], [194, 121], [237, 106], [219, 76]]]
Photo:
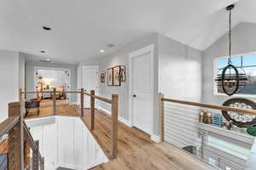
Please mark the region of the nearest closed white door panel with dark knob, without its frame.
[[131, 59], [131, 99], [133, 126], [150, 133], [151, 127], [151, 53], [140, 54]]

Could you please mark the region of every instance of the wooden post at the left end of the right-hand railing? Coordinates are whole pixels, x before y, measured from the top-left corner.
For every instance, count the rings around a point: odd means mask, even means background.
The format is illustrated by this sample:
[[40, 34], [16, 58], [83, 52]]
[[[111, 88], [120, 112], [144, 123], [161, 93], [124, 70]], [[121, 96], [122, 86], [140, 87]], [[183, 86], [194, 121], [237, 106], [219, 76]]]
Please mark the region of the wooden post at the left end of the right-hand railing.
[[165, 137], [165, 111], [164, 111], [164, 94], [159, 94], [159, 109], [160, 109], [160, 141], [164, 142]]

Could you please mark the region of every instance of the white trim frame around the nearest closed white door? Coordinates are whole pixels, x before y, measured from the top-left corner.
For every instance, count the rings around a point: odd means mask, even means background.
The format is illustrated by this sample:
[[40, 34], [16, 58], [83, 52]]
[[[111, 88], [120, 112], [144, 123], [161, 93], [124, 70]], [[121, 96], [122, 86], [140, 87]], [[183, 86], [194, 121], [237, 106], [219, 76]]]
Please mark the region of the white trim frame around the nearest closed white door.
[[129, 54], [129, 65], [130, 65], [130, 69], [129, 69], [129, 114], [130, 114], [130, 124], [131, 127], [134, 126], [134, 122], [133, 122], [133, 117], [134, 117], [134, 113], [133, 113], [133, 99], [132, 99], [132, 92], [133, 92], [133, 87], [132, 87], [132, 81], [133, 81], [133, 77], [132, 77], [132, 59], [139, 57], [142, 54], [147, 54], [150, 53], [150, 60], [151, 60], [151, 73], [150, 73], [150, 77], [151, 77], [151, 90], [150, 90], [150, 136], [153, 136], [153, 124], [154, 124], [154, 44], [150, 44], [144, 48], [140, 48], [134, 52], [131, 52]]

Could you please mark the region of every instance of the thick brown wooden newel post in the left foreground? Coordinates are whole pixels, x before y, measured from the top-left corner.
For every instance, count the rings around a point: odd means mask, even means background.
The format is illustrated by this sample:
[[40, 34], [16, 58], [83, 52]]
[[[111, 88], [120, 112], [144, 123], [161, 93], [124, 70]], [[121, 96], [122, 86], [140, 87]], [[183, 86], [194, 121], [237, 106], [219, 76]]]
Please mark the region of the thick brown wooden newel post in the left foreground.
[[9, 103], [9, 116], [20, 116], [20, 121], [9, 131], [9, 170], [24, 169], [23, 113], [23, 103]]

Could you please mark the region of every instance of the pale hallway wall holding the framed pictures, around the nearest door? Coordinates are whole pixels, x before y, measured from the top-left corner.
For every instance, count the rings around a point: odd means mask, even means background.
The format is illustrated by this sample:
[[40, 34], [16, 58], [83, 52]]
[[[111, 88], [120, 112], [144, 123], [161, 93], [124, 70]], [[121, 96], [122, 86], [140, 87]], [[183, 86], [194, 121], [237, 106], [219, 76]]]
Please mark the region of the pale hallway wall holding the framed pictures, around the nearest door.
[[[103, 56], [101, 59], [96, 59], [94, 61], [84, 61], [79, 65], [79, 71], [82, 71], [82, 65], [99, 65], [99, 73], [102, 71], [107, 71], [108, 68], [111, 68], [116, 65], [125, 65], [126, 67], [126, 82], [122, 82], [120, 87], [109, 87], [107, 83], [101, 83], [100, 80], [100, 95], [110, 99], [111, 94], [119, 94], [119, 118], [123, 122], [130, 122], [129, 115], [129, 54], [137, 49], [144, 48], [150, 44], [154, 44], [154, 95], [158, 94], [158, 34], [153, 33], [146, 37], [143, 37], [136, 42], [131, 42], [124, 48], [120, 48], [113, 54]], [[78, 72], [79, 72], [78, 71]], [[78, 73], [79, 75], [80, 73]], [[82, 74], [82, 73], [81, 73]], [[82, 77], [82, 75], [79, 75]], [[79, 80], [79, 78], [78, 78]], [[78, 83], [82, 83], [79, 80]], [[78, 85], [79, 87], [79, 85]], [[154, 104], [157, 106], [157, 99], [154, 99]], [[110, 111], [110, 105], [102, 102], [102, 109]], [[154, 134], [159, 133], [159, 118], [158, 118], [158, 108], [154, 107]]]

